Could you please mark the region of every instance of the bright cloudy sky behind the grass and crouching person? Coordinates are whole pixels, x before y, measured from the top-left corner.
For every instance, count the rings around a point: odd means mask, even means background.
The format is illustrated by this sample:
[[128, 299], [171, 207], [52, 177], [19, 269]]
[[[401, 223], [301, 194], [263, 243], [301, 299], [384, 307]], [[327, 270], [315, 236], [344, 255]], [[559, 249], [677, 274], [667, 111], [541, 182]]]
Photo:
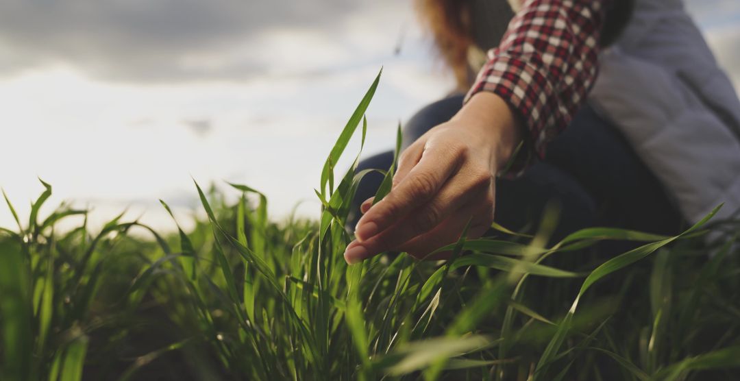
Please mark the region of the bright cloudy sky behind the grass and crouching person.
[[[740, 85], [740, 1], [687, 5]], [[410, 0], [0, 0], [0, 186], [21, 217], [37, 178], [93, 222], [127, 209], [172, 228], [158, 199], [184, 222], [193, 178], [260, 189], [275, 220], [316, 216], [323, 161], [380, 67], [368, 154], [453, 83]]]

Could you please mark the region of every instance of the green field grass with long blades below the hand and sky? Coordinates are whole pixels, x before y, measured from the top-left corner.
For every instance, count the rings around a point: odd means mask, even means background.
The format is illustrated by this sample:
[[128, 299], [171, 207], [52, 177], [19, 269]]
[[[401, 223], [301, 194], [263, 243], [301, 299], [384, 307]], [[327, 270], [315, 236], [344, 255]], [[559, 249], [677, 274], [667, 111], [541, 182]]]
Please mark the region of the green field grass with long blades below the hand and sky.
[[358, 128], [364, 141], [379, 78], [327, 158], [317, 220], [275, 223], [249, 186], [230, 184], [234, 205], [196, 184], [207, 218], [190, 232], [174, 216], [175, 234], [120, 216], [60, 232], [87, 212], [41, 218], [42, 183], [30, 220], [0, 231], [0, 380], [740, 378], [737, 221], [548, 246], [545, 215], [533, 235], [461, 239], [447, 262], [346, 265], [365, 173], [334, 163]]

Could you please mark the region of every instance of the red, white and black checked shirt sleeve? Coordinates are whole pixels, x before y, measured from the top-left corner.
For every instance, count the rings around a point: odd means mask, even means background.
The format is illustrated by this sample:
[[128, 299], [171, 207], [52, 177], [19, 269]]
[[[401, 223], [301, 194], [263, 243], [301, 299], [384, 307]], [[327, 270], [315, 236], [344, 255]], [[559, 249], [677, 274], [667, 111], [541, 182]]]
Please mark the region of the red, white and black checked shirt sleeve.
[[494, 92], [524, 121], [525, 152], [508, 174], [521, 173], [573, 119], [599, 70], [599, 35], [609, 0], [526, 0], [501, 44], [488, 52], [465, 97]]

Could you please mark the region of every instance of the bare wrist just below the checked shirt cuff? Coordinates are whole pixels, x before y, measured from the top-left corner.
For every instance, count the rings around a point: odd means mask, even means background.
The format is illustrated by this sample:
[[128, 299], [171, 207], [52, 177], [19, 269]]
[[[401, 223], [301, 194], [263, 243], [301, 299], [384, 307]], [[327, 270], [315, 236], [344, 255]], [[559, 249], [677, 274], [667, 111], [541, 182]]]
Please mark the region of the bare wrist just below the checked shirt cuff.
[[514, 109], [494, 92], [478, 92], [452, 119], [474, 130], [491, 148], [491, 170], [497, 175], [522, 141], [523, 123]]

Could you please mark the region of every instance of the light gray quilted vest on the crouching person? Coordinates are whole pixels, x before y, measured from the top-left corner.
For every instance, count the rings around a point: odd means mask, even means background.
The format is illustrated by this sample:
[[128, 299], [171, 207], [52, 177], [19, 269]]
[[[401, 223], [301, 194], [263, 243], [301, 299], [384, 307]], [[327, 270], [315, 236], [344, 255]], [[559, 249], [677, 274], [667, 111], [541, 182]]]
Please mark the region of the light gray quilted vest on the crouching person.
[[[589, 103], [696, 222], [740, 210], [740, 101], [680, 0], [638, 0]], [[608, 175], [608, 174], [605, 174]]]

